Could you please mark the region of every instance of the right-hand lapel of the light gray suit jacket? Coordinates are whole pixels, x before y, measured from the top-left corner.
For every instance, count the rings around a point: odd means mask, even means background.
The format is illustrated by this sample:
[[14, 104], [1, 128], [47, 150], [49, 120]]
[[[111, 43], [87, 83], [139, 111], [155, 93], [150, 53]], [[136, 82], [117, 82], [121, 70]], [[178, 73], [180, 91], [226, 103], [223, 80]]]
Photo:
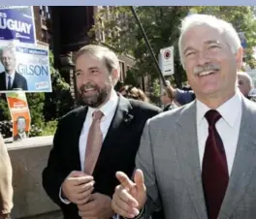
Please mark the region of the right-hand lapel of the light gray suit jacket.
[[253, 127], [255, 123], [251, 122], [255, 114], [251, 112], [247, 102], [242, 98], [240, 136], [229, 185], [220, 210], [222, 217], [232, 215], [256, 169], [255, 127]]

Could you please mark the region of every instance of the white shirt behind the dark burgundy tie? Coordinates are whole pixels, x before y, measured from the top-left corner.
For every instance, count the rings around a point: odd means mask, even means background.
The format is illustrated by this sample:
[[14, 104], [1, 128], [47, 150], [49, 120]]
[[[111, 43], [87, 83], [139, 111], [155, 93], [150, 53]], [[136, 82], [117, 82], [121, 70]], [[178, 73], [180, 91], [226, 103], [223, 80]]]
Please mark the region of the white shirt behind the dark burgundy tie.
[[[205, 153], [206, 141], [208, 139], [208, 120], [205, 117], [209, 108], [200, 102], [197, 104], [197, 135], [199, 144], [199, 158], [202, 169], [203, 158]], [[237, 145], [240, 135], [240, 119], [241, 119], [241, 93], [237, 90], [236, 94], [226, 103], [216, 109], [221, 118], [216, 123], [216, 129], [223, 141], [229, 174], [232, 171]]]

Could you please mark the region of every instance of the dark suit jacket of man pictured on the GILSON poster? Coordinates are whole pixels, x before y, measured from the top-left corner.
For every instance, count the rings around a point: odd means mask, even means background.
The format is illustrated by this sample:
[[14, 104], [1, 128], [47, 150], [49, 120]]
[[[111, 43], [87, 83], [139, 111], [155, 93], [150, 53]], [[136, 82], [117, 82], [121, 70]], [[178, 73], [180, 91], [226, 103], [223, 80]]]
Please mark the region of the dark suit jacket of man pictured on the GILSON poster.
[[[15, 80], [13, 82], [12, 90], [15, 88], [21, 88], [22, 90], [27, 90], [26, 78], [24, 78], [17, 72], [16, 72]], [[7, 90], [5, 72], [0, 73], [0, 90], [1, 91]]]

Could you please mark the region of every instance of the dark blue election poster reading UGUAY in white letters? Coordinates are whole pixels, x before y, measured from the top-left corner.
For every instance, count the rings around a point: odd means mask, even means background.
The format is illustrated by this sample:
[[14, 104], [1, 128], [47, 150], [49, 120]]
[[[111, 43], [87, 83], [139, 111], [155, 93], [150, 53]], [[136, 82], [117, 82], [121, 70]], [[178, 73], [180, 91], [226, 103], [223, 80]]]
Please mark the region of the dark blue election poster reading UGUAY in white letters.
[[0, 6], [0, 40], [36, 45], [33, 6]]

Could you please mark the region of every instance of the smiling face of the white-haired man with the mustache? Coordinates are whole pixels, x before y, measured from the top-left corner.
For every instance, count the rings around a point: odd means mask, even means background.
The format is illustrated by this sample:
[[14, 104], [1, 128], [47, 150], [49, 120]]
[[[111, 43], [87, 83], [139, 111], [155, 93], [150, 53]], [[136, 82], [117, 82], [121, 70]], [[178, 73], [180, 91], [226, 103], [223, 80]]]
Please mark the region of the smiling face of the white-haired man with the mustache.
[[191, 27], [183, 35], [181, 49], [188, 82], [198, 99], [235, 94], [242, 53], [239, 49], [234, 54], [223, 34], [207, 25]]

